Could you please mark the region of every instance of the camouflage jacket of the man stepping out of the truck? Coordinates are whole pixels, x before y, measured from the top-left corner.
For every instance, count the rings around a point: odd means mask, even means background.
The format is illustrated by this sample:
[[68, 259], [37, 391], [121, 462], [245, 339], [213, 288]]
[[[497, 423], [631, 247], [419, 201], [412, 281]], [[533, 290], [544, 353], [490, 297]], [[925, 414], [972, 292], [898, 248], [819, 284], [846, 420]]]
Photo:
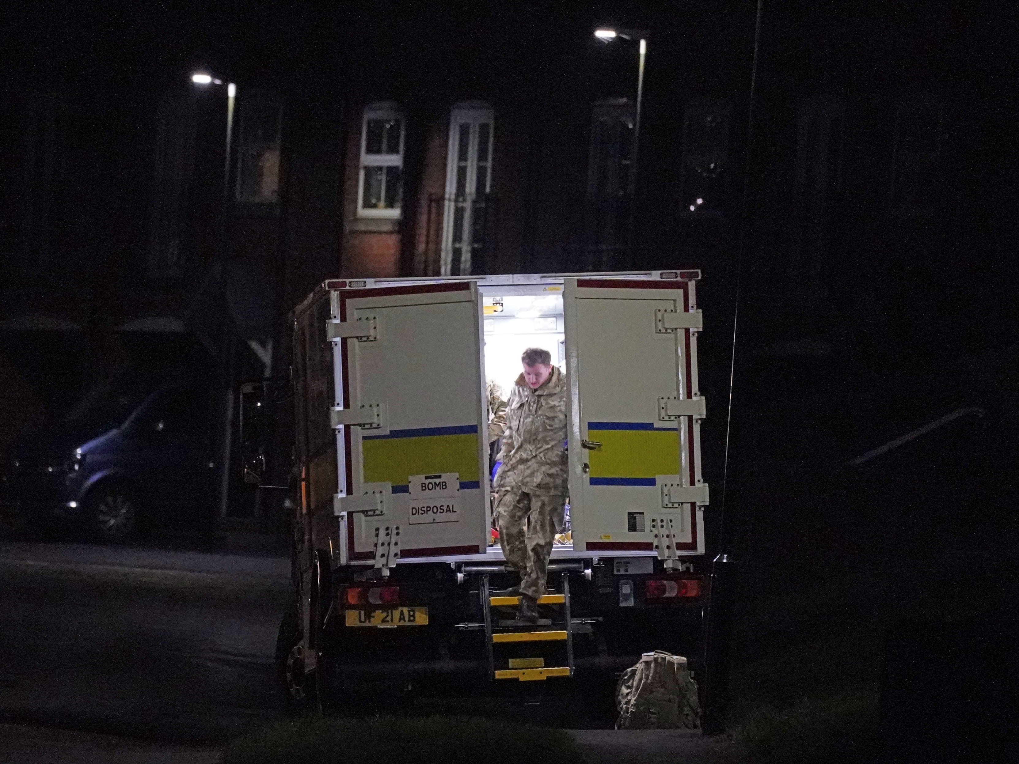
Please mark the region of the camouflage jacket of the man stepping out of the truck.
[[567, 380], [556, 367], [537, 390], [527, 385], [523, 374], [517, 378], [506, 403], [496, 490], [566, 495], [567, 402]]

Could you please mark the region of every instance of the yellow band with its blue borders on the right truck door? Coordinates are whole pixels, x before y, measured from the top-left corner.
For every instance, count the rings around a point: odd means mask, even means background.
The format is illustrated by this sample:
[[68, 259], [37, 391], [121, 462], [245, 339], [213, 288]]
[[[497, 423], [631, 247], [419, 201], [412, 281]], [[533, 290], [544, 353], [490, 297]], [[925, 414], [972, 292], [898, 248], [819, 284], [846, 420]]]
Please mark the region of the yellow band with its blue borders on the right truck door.
[[657, 475], [680, 472], [680, 433], [650, 422], [588, 422], [588, 438], [601, 447], [588, 453], [592, 486], [654, 486]]

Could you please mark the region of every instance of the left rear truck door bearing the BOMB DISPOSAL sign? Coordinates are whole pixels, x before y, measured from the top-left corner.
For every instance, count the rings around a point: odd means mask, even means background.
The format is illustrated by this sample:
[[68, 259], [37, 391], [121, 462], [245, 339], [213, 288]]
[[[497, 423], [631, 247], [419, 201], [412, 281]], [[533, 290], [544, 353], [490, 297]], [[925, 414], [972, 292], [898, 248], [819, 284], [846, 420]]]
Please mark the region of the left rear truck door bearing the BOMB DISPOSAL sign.
[[472, 282], [340, 289], [330, 337], [343, 562], [476, 554], [488, 532]]

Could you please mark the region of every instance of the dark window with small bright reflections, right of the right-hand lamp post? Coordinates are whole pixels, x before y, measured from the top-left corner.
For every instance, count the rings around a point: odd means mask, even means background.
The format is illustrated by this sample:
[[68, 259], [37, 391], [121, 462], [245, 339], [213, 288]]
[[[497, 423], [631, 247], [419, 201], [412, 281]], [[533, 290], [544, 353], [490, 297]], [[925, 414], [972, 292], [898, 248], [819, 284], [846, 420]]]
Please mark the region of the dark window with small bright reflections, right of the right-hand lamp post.
[[694, 101], [683, 120], [680, 212], [716, 216], [725, 211], [729, 175], [732, 104]]

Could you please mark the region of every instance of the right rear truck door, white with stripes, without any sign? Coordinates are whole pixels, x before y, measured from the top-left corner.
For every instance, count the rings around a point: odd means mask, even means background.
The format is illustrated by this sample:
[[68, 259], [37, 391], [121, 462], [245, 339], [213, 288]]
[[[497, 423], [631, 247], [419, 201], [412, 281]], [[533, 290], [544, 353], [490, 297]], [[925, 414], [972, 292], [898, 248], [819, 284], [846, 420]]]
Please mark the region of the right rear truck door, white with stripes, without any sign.
[[694, 288], [566, 279], [576, 550], [653, 551], [665, 560], [704, 552]]

